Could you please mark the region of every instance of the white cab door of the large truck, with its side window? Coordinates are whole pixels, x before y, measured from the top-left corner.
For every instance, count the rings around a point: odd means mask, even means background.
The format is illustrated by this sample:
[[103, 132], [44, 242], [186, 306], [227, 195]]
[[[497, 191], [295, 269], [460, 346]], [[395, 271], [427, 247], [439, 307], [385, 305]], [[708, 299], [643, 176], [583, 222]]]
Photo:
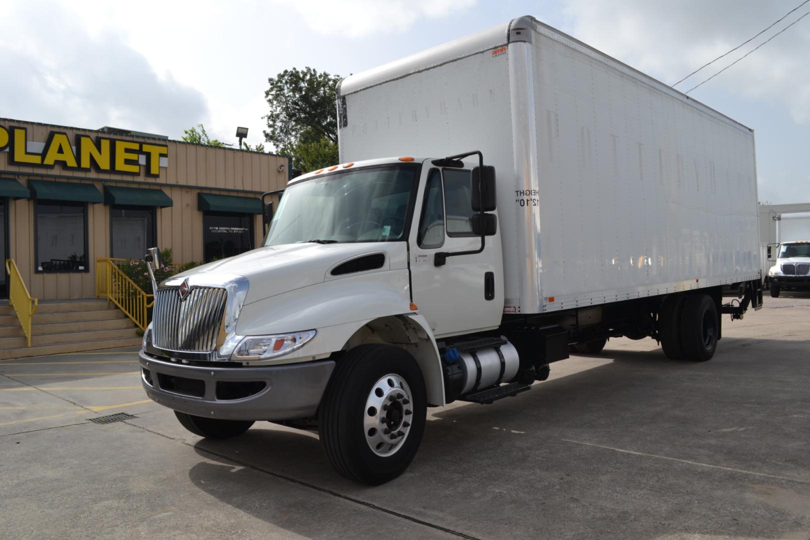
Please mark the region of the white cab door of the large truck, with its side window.
[[497, 327], [503, 314], [503, 262], [500, 235], [487, 236], [481, 253], [447, 257], [437, 252], [475, 250], [469, 170], [423, 170], [409, 238], [413, 301], [436, 336]]

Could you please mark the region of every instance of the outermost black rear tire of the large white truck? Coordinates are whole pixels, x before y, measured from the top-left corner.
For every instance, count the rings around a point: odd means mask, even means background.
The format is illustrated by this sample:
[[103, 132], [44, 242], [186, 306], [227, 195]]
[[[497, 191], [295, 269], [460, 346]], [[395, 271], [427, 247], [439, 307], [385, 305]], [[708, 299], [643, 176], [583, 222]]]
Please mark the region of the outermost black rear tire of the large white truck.
[[691, 295], [684, 300], [680, 316], [680, 338], [684, 358], [706, 362], [714, 356], [720, 334], [717, 306], [708, 295]]

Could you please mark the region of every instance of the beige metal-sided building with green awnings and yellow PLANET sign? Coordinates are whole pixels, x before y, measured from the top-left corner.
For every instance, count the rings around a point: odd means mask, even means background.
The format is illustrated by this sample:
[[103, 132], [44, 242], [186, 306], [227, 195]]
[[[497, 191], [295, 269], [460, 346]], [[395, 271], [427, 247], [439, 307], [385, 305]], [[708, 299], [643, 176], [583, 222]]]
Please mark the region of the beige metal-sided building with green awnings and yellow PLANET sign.
[[0, 118], [0, 258], [33, 297], [92, 298], [96, 257], [157, 245], [210, 261], [258, 246], [261, 195], [289, 173], [279, 155]]

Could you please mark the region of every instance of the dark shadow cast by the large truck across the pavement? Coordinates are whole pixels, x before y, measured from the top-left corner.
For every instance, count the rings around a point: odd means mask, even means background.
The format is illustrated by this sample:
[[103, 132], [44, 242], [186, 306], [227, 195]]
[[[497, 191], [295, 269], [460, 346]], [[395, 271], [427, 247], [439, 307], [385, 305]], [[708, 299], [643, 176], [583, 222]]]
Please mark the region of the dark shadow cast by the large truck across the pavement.
[[[799, 511], [810, 508], [810, 398], [802, 382], [810, 378], [810, 341], [722, 344], [707, 363], [608, 348], [579, 357], [604, 363], [580, 362], [580, 371], [557, 378], [552, 365], [552, 379], [514, 398], [429, 410], [415, 461], [380, 487], [336, 474], [317, 437], [259, 423], [238, 439], [199, 440], [201, 456], [227, 464], [200, 462], [189, 477], [226, 504], [311, 537], [334, 534], [334, 524], [289, 517], [300, 508], [284, 478], [486, 538], [494, 530], [514, 538], [577, 530], [654, 538], [673, 524], [680, 533], [770, 538], [797, 524], [810, 528]], [[787, 490], [782, 500], [792, 506], [762, 495], [774, 489]], [[436, 508], [431, 500], [444, 502]], [[706, 517], [707, 500], [724, 509]]]

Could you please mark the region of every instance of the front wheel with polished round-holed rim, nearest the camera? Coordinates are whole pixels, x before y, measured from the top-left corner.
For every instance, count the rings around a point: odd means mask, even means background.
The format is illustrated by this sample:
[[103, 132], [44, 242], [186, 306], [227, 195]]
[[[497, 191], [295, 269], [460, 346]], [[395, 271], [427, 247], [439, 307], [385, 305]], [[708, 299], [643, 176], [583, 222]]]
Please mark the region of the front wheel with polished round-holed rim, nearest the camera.
[[424, 378], [399, 347], [360, 345], [338, 360], [318, 432], [332, 466], [360, 483], [397, 478], [411, 464], [427, 416]]

